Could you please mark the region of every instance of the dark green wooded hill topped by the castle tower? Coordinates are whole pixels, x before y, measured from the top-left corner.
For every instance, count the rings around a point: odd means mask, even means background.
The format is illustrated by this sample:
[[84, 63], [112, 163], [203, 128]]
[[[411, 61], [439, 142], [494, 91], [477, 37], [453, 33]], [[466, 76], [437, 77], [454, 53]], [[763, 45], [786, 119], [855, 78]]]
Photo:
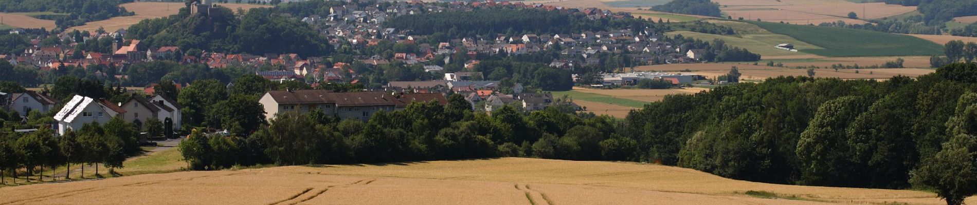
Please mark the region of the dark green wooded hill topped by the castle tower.
[[281, 16], [275, 8], [251, 9], [244, 14], [227, 8], [220, 11], [202, 16], [183, 8], [175, 16], [146, 19], [129, 27], [126, 39], [141, 39], [149, 47], [177, 46], [188, 52], [324, 56], [332, 51], [316, 29]]

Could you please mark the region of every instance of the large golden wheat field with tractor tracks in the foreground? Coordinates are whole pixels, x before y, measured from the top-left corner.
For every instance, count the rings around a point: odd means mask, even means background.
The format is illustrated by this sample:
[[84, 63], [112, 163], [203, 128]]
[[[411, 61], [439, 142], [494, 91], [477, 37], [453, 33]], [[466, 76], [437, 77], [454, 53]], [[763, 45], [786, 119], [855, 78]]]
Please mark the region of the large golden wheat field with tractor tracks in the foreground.
[[944, 203], [915, 190], [771, 185], [654, 164], [516, 157], [147, 174], [0, 190], [0, 204]]

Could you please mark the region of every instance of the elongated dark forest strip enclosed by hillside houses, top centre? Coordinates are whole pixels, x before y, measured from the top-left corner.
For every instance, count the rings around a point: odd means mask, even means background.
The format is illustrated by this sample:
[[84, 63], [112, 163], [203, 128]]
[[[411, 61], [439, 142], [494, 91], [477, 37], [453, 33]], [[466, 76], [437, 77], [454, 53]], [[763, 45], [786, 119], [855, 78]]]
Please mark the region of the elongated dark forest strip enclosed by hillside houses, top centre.
[[[443, 33], [449, 38], [493, 38], [496, 34], [580, 33], [645, 27], [654, 29], [663, 28], [664, 25], [638, 18], [592, 20], [583, 15], [567, 15], [558, 11], [497, 8], [395, 17], [384, 22], [383, 26], [408, 30], [413, 35]], [[634, 31], [638, 32], [636, 29]]]

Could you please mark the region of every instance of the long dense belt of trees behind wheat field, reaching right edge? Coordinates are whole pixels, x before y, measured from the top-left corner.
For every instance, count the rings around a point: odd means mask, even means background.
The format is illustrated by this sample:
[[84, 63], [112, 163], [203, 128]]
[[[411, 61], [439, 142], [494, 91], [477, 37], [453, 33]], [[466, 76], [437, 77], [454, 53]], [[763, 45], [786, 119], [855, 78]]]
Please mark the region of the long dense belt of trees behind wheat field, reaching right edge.
[[198, 170], [494, 156], [631, 160], [754, 182], [926, 188], [954, 205], [977, 192], [974, 73], [977, 64], [956, 63], [883, 82], [779, 77], [666, 96], [625, 120], [575, 114], [565, 98], [544, 111], [506, 106], [489, 116], [451, 95], [446, 106], [415, 103], [366, 122], [284, 113], [254, 132], [194, 133], [180, 147]]

